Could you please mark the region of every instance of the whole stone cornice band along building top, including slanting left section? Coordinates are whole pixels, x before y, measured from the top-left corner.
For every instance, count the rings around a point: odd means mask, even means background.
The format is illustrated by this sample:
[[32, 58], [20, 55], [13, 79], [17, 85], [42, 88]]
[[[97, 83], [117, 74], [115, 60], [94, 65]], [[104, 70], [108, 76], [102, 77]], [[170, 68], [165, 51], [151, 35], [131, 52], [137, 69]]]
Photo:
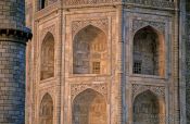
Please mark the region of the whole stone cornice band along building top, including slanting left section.
[[[63, 5], [62, 5], [63, 4]], [[110, 8], [123, 5], [125, 8], [141, 8], [141, 9], [152, 9], [152, 10], [176, 10], [175, 2], [166, 0], [66, 0], [63, 3], [58, 1], [40, 11], [35, 13], [35, 18], [40, 20], [49, 14], [58, 12], [59, 10], [69, 10], [69, 9], [84, 9], [84, 8]]]

